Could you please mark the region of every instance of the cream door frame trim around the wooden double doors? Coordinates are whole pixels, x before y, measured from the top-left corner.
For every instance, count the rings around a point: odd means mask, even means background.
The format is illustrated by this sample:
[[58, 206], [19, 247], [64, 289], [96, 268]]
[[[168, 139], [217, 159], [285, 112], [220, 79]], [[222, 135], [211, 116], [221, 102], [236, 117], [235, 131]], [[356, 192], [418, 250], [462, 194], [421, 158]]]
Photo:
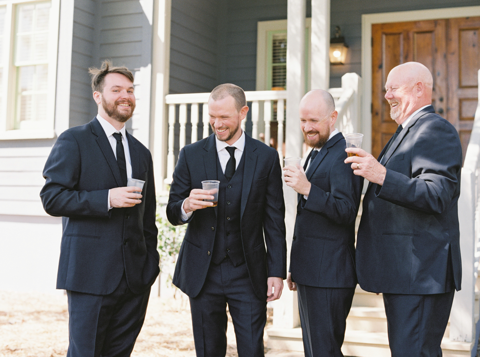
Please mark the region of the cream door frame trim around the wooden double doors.
[[361, 76], [363, 78], [361, 132], [364, 134], [362, 145], [365, 147], [365, 150], [368, 152], [372, 151], [372, 113], [370, 111], [372, 103], [372, 24], [453, 19], [456, 17], [472, 16], [480, 16], [480, 6], [382, 12], [363, 14], [361, 16]]

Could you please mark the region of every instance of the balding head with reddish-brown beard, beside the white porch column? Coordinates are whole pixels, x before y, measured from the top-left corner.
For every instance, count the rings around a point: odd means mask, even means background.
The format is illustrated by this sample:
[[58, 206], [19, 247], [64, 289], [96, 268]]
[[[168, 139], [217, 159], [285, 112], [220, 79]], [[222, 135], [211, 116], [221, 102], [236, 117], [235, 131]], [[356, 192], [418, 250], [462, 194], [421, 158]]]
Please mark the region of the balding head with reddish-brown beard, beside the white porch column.
[[300, 127], [307, 145], [321, 148], [335, 130], [337, 112], [329, 92], [314, 89], [300, 101]]

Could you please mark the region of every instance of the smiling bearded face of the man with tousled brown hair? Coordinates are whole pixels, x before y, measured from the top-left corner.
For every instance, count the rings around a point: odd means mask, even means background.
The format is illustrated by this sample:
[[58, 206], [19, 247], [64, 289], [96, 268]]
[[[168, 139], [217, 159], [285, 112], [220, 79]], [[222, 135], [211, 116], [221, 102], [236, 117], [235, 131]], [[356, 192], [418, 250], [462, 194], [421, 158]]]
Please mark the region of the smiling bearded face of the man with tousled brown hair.
[[105, 76], [100, 99], [105, 113], [110, 118], [125, 123], [132, 117], [135, 109], [133, 83], [123, 74], [108, 73]]

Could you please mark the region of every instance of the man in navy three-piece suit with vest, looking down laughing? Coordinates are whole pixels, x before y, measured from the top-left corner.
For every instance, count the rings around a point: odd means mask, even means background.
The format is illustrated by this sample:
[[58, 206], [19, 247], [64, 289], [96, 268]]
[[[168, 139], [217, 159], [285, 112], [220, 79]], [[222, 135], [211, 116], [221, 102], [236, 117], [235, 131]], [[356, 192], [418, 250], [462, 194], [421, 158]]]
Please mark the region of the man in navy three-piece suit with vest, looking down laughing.
[[[239, 357], [264, 356], [266, 303], [287, 277], [285, 204], [278, 153], [240, 128], [243, 90], [217, 86], [208, 100], [213, 134], [180, 150], [167, 217], [188, 223], [173, 283], [190, 298], [197, 357], [227, 352], [227, 311]], [[218, 180], [218, 204], [202, 181]], [[265, 249], [266, 248], [266, 249]]]

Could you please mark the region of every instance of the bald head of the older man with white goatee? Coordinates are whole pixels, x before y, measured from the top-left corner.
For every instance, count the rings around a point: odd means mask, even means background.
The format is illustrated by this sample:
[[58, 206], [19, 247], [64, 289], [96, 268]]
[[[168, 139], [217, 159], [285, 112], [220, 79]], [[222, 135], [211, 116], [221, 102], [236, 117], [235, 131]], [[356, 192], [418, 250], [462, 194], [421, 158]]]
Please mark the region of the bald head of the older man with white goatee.
[[419, 62], [393, 68], [385, 83], [385, 99], [390, 104], [392, 119], [402, 124], [417, 109], [432, 104], [432, 87], [432, 73]]

